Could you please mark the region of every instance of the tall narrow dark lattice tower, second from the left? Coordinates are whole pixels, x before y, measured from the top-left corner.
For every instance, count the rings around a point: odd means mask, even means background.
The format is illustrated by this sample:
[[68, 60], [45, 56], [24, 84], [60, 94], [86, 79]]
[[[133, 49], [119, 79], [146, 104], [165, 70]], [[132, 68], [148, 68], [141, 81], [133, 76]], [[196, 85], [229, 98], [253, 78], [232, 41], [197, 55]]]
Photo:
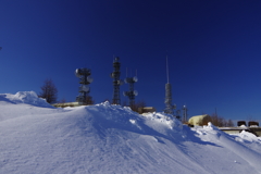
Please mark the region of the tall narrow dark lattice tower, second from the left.
[[123, 85], [123, 80], [120, 79], [121, 76], [121, 63], [119, 62], [120, 58], [116, 57], [113, 61], [114, 71], [111, 73], [111, 77], [113, 78], [113, 104], [121, 104], [121, 96], [120, 96], [120, 86]]

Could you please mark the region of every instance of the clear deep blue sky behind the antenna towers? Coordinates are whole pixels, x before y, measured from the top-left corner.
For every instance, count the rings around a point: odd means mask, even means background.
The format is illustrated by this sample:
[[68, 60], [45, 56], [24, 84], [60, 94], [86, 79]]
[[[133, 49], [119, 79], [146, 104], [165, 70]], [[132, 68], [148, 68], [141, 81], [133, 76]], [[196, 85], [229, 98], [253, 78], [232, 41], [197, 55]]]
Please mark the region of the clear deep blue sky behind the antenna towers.
[[122, 78], [138, 71], [136, 101], [162, 111], [167, 54], [173, 103], [188, 116], [216, 108], [261, 120], [260, 9], [259, 0], [1, 0], [0, 92], [39, 94], [52, 78], [59, 99], [75, 101], [74, 71], [88, 67], [90, 96], [111, 100], [115, 55]]

